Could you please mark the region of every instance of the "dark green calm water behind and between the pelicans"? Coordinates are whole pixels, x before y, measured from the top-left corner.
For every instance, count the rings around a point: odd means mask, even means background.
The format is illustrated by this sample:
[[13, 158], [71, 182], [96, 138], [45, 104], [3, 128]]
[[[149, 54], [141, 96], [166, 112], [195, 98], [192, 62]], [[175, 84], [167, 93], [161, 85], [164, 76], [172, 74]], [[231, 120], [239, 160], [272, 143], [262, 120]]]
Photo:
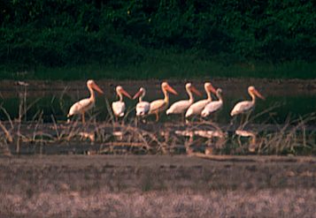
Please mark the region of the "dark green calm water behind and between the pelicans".
[[[154, 90], [155, 87], [150, 87], [151, 90]], [[134, 88], [137, 91], [137, 88]], [[202, 92], [202, 88], [199, 90]], [[181, 99], [187, 99], [187, 94], [185, 94], [184, 90], [178, 91], [180, 94], [178, 96], [171, 95], [170, 100], [171, 104], [174, 101], [178, 101]], [[131, 95], [135, 94], [135, 92], [131, 92]], [[266, 95], [265, 92], [261, 92]], [[204, 94], [204, 93], [203, 93]], [[5, 97], [1, 99], [1, 105], [4, 109], [8, 111], [10, 117], [15, 119], [19, 115], [19, 102], [23, 101], [19, 99], [19, 94], [15, 94], [16, 96]], [[39, 91], [39, 96], [27, 95], [27, 116], [24, 119], [36, 120], [42, 113], [42, 119], [44, 122], [52, 122], [51, 117], [55, 117], [58, 121], [65, 121], [66, 114], [71, 107], [71, 105], [80, 100], [81, 98], [88, 96], [88, 91], [80, 93], [80, 92], [65, 92], [65, 93], [57, 93], [55, 95], [49, 94], [48, 96], [41, 96], [41, 91]], [[250, 100], [250, 96], [246, 91], [240, 90], [240, 92], [228, 92], [227, 94], [223, 93], [224, 96], [224, 107], [219, 112], [215, 113], [210, 117], [212, 121], [216, 121], [219, 124], [227, 124], [230, 122], [231, 117], [229, 116], [230, 110], [233, 109], [234, 105], [238, 101]], [[196, 97], [197, 101], [199, 99], [203, 99], [203, 97]], [[158, 98], [163, 98], [163, 94], [159, 88], [156, 88], [155, 91], [148, 92], [145, 96], [145, 101], [152, 101]], [[90, 114], [96, 115], [96, 119], [98, 121], [104, 121], [105, 119], [110, 118], [108, 109], [106, 108], [106, 102], [117, 101], [115, 98], [114, 92], [112, 94], [107, 94], [107, 96], [97, 95], [96, 97], [96, 107], [91, 110]], [[129, 114], [127, 118], [135, 117], [135, 104], [138, 100], [129, 100], [125, 99], [127, 104], [127, 111]], [[262, 111], [265, 111], [262, 116], [256, 118], [253, 122], [256, 124], [260, 124], [262, 122], [265, 123], [284, 123], [288, 117], [291, 119], [295, 119], [297, 117], [302, 117], [304, 115], [311, 114], [316, 111], [316, 96], [312, 94], [291, 94], [286, 96], [281, 96], [278, 94], [275, 95], [267, 95], [266, 101], [262, 101], [258, 99], [256, 108], [251, 113], [251, 116], [254, 116]], [[6, 116], [4, 112], [0, 113], [1, 119], [6, 120]], [[154, 120], [154, 116], [150, 117], [151, 120]], [[160, 122], [177, 122], [181, 121], [181, 116], [170, 116], [166, 117], [165, 114], [161, 116]]]

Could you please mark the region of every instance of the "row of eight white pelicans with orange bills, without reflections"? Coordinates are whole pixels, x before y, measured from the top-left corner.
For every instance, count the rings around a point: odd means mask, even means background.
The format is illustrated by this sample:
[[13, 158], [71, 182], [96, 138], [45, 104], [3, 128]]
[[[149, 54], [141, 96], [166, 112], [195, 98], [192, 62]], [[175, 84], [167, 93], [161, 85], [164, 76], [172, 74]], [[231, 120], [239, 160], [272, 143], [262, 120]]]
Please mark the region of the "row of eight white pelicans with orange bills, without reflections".
[[[70, 121], [70, 117], [73, 115], [81, 115], [82, 123], [85, 123], [85, 112], [89, 109], [92, 109], [96, 102], [95, 92], [104, 94], [103, 90], [96, 85], [96, 82], [92, 79], [87, 81], [87, 87], [89, 89], [90, 97], [77, 101], [69, 109], [67, 114], [67, 121]], [[195, 101], [194, 95], [201, 96], [201, 93], [197, 90], [195, 86], [191, 83], [185, 85], [185, 89], [189, 96], [187, 100], [175, 101], [169, 106], [169, 93], [177, 95], [178, 93], [170, 86], [166, 81], [161, 83], [161, 90], [164, 94], [164, 99], [158, 99], [155, 101], [143, 101], [143, 98], [146, 94], [144, 87], [140, 87], [138, 92], [134, 95], [133, 99], [139, 98], [135, 106], [136, 117], [145, 117], [147, 115], [155, 115], [156, 122], [159, 120], [159, 113], [166, 110], [166, 115], [171, 114], [185, 114], [185, 117], [192, 116], [201, 116], [208, 117], [212, 113], [223, 108], [223, 98], [222, 98], [222, 89], [218, 88], [215, 90], [214, 86], [210, 82], [204, 83], [204, 90], [207, 94], [207, 98]], [[239, 114], [246, 114], [254, 108], [256, 104], [256, 98], [265, 100], [265, 97], [258, 92], [254, 86], [248, 87], [248, 93], [250, 94], [251, 101], [240, 101], [235, 104], [235, 107], [231, 110], [230, 116], [234, 117]], [[119, 96], [119, 101], [112, 102], [112, 111], [116, 118], [123, 117], [125, 115], [126, 104], [123, 101], [123, 95], [127, 96], [129, 99], [132, 99], [131, 95], [127, 93], [122, 86], [116, 86], [116, 94]], [[215, 94], [217, 97], [216, 101], [212, 101], [212, 94]]]

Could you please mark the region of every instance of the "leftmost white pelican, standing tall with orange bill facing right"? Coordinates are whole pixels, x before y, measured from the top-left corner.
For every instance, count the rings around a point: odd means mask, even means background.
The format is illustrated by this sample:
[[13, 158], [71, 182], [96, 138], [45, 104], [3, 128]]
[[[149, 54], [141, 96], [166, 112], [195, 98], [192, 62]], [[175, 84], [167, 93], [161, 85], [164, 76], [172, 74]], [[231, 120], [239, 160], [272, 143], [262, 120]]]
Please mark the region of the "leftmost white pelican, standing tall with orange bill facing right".
[[95, 81], [92, 79], [89, 79], [87, 81], [87, 86], [90, 92], [90, 97], [86, 99], [82, 99], [81, 101], [77, 101], [73, 104], [73, 106], [69, 109], [69, 113], [67, 115], [68, 122], [70, 122], [69, 117], [75, 115], [75, 114], [81, 114], [82, 116], [82, 123], [85, 123], [84, 113], [92, 109], [96, 102], [96, 96], [95, 92], [93, 90], [96, 90], [96, 92], [100, 94], [104, 94], [104, 92], [101, 90], [99, 86], [96, 85]]

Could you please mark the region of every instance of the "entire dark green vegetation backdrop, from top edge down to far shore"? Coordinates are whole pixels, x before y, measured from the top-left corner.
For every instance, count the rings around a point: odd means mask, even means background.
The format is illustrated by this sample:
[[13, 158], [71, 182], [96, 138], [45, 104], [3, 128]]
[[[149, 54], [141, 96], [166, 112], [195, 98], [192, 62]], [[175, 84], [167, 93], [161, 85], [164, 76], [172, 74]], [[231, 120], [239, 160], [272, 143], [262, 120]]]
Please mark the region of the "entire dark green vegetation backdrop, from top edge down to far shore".
[[315, 1], [1, 0], [0, 9], [2, 78], [316, 76]]

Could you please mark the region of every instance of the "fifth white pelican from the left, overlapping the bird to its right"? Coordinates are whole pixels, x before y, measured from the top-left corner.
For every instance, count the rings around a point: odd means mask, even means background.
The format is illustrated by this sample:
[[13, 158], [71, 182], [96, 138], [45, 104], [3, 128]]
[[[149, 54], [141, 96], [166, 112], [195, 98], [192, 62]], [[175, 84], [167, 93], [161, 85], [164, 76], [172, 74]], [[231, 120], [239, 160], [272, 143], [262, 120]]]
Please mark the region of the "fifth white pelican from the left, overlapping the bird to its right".
[[173, 105], [170, 106], [169, 109], [166, 110], [166, 115], [170, 114], [184, 114], [184, 112], [189, 109], [189, 106], [193, 104], [194, 98], [193, 98], [193, 93], [201, 96], [202, 94], [197, 91], [197, 89], [192, 86], [191, 83], [187, 83], [185, 85], [185, 89], [187, 90], [187, 93], [189, 95], [189, 100], [181, 100], [181, 101], [176, 101], [173, 103]]

